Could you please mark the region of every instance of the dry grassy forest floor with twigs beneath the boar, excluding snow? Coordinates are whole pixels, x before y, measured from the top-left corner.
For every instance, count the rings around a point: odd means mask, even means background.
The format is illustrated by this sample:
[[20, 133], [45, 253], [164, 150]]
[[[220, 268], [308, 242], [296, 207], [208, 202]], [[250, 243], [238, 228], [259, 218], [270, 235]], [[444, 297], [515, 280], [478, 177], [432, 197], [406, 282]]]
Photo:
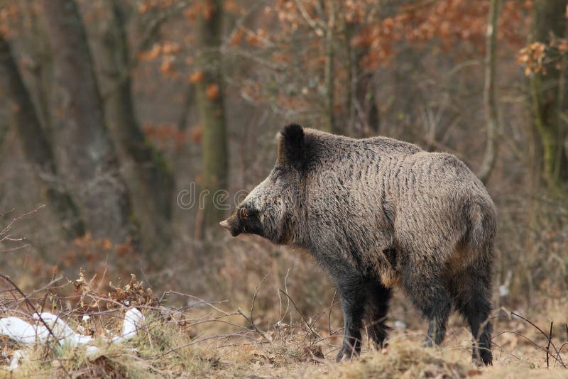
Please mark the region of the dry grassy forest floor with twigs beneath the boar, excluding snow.
[[[293, 325], [286, 324], [290, 317], [278, 321], [278, 314], [275, 323], [268, 323], [262, 312], [254, 309], [254, 298], [249, 309], [229, 312], [227, 304], [182, 294], [175, 295], [188, 299], [186, 307], [165, 305], [165, 297], [158, 299], [136, 278], [123, 287], [111, 288], [106, 296], [92, 290], [84, 278], [67, 283], [71, 284], [79, 294], [73, 298], [73, 310], [58, 310], [71, 308], [70, 297], [54, 291], [21, 297], [17, 290], [8, 289], [3, 292], [0, 317], [16, 316], [31, 322], [35, 310], [58, 314], [75, 331], [92, 336], [97, 351], [53, 340], [23, 346], [0, 337], [0, 377], [568, 378], [564, 365], [568, 363], [568, 308], [560, 300], [547, 302], [542, 312], [530, 317], [506, 309], [494, 312], [493, 366], [479, 368], [471, 363], [471, 334], [455, 315], [442, 346], [422, 348], [425, 325], [420, 319], [408, 326], [391, 319], [395, 329], [386, 348], [369, 348], [364, 337], [360, 358], [335, 363], [342, 330], [332, 328], [338, 320], [332, 323], [329, 309], [322, 309], [314, 319], [297, 312]], [[109, 342], [109, 335], [120, 334], [125, 310], [132, 307], [145, 317], [136, 336], [121, 343]], [[293, 307], [288, 303], [284, 314]], [[396, 310], [394, 314], [396, 317]], [[552, 326], [551, 319], [556, 320]], [[22, 358], [17, 368], [10, 368], [15, 354]]]

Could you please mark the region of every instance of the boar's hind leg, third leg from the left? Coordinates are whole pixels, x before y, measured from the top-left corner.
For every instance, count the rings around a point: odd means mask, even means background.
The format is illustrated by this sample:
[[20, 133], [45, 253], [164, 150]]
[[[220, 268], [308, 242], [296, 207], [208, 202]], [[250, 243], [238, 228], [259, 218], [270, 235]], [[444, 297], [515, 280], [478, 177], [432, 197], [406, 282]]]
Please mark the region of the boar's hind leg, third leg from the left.
[[403, 287], [422, 316], [430, 322], [425, 346], [442, 344], [446, 336], [452, 297], [442, 279], [443, 265], [429, 262], [411, 262], [403, 268]]

